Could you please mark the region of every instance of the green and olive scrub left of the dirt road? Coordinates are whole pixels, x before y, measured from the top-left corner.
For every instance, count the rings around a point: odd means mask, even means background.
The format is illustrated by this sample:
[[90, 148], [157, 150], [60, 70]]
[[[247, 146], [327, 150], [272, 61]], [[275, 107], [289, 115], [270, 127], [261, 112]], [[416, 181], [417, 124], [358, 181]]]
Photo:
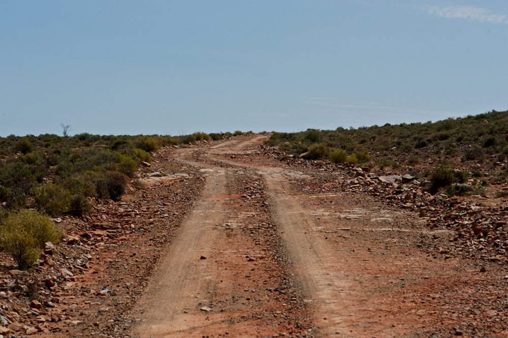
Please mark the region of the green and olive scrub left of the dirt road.
[[[81, 133], [73, 137], [41, 134], [0, 138], [2, 249], [15, 257], [19, 267], [27, 268], [35, 262], [40, 249], [37, 241], [42, 237], [38, 231], [13, 224], [25, 224], [22, 220], [29, 217], [34, 226], [49, 226], [48, 216], [84, 216], [90, 212], [92, 201], [120, 200], [138, 167], [151, 163], [151, 153], [161, 147], [231, 136], [195, 132], [179, 137]], [[26, 213], [26, 209], [31, 211]]]

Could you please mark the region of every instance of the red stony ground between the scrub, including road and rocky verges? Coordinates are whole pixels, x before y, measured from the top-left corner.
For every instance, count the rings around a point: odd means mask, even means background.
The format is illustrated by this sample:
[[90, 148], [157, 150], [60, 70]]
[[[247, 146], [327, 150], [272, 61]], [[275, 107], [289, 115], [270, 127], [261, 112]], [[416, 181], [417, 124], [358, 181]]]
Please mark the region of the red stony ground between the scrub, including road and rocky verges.
[[[19, 272], [2, 256], [0, 333], [508, 335], [508, 207], [494, 190], [430, 195], [404, 173], [292, 159], [262, 141], [162, 149], [120, 202], [55, 220], [64, 240], [39, 266]], [[178, 330], [148, 335], [157, 275], [207, 200], [226, 212], [188, 260], [199, 285], [168, 305]]]

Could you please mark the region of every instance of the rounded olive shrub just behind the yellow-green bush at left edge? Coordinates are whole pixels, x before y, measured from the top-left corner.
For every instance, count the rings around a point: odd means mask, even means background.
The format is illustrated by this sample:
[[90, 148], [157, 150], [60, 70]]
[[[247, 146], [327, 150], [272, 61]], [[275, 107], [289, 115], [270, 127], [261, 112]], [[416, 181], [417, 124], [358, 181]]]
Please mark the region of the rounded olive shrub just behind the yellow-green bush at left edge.
[[37, 206], [51, 217], [61, 216], [69, 211], [70, 193], [63, 187], [48, 183], [34, 189]]

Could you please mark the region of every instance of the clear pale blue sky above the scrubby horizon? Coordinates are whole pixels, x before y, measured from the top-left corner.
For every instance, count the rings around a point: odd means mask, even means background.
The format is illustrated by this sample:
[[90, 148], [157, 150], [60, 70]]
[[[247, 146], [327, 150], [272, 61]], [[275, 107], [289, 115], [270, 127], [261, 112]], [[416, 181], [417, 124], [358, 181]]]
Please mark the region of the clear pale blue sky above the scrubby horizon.
[[0, 0], [0, 136], [501, 111], [506, 55], [506, 1]]

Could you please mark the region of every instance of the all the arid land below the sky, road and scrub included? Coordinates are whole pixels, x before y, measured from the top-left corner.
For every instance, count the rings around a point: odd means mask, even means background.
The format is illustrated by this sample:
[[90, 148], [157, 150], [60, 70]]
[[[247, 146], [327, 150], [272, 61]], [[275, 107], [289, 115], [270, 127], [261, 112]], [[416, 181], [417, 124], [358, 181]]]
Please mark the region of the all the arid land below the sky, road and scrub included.
[[147, 336], [188, 309], [190, 335], [504, 332], [507, 120], [0, 138], [0, 326]]

